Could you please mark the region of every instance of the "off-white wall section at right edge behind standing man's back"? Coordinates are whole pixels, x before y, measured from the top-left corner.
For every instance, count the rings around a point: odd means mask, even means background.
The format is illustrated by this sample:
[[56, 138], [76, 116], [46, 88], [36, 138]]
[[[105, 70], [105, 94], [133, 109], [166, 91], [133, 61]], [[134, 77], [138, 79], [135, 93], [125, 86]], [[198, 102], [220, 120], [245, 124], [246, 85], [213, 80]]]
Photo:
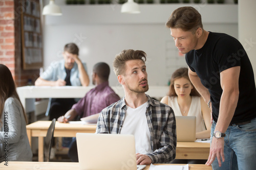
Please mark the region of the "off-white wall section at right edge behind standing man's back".
[[251, 61], [254, 79], [256, 80], [256, 1], [239, 1], [239, 40], [243, 44], [247, 55]]

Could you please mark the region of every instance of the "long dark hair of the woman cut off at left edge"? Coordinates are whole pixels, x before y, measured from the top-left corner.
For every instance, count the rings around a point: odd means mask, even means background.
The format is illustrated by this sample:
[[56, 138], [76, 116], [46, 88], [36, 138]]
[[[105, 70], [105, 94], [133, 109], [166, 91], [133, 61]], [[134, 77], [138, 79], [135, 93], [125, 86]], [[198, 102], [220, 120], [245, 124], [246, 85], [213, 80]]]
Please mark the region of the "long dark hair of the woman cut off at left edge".
[[[5, 101], [12, 95], [19, 101], [20, 105], [22, 105], [16, 91], [16, 86], [12, 78], [11, 71], [7, 66], [0, 64], [0, 121], [5, 107]], [[22, 110], [27, 124], [28, 120], [23, 106]]]

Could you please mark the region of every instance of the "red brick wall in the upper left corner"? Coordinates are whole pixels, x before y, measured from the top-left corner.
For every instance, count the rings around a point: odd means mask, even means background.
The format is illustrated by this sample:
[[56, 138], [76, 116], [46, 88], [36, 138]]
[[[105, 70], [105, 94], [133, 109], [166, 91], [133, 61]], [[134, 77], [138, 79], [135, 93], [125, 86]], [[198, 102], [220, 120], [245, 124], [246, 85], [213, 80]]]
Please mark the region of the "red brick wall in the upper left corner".
[[22, 68], [20, 9], [19, 0], [0, 0], [0, 63], [11, 70], [17, 87], [25, 86], [29, 79], [34, 83], [39, 77], [39, 69]]

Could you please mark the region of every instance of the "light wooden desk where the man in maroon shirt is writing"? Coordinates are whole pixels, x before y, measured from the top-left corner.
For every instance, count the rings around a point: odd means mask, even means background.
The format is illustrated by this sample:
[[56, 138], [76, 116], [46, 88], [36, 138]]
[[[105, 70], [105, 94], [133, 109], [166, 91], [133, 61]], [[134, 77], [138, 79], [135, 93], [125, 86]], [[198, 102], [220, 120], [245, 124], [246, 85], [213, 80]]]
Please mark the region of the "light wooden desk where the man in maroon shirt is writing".
[[[44, 161], [44, 137], [51, 121], [37, 121], [27, 125], [27, 134], [31, 145], [31, 137], [38, 137], [38, 161]], [[62, 124], [56, 122], [54, 137], [75, 137], [76, 133], [95, 133], [96, 125]]]

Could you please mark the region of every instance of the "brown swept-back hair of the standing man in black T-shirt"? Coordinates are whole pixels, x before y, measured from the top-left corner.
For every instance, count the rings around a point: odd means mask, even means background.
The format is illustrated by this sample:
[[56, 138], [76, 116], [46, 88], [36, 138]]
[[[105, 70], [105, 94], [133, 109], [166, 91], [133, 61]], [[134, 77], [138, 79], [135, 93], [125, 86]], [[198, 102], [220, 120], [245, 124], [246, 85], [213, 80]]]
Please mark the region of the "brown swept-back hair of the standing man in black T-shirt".
[[180, 7], [170, 15], [165, 26], [170, 29], [195, 32], [202, 28], [201, 14], [193, 7]]

